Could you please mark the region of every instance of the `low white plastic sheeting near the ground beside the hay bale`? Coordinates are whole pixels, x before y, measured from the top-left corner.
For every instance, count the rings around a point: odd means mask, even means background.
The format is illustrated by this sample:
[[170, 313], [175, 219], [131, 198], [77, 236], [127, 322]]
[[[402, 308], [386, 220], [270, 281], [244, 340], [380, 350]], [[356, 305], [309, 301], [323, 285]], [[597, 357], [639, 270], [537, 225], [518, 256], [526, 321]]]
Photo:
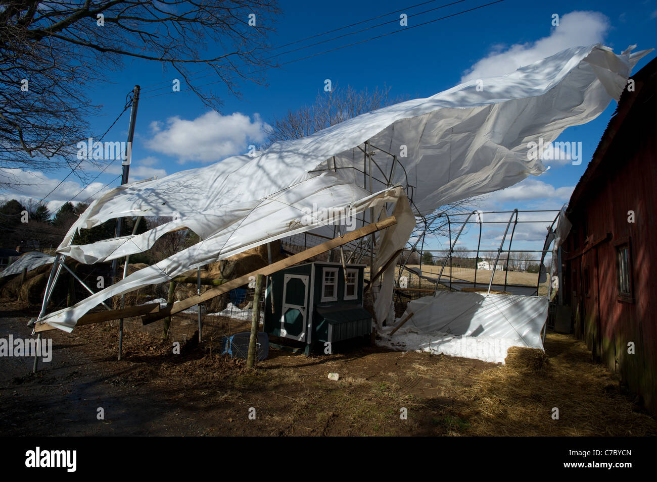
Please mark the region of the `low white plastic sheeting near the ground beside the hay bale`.
[[543, 296], [438, 291], [409, 302], [395, 334], [380, 332], [379, 346], [504, 362], [511, 346], [543, 350], [541, 331], [549, 300]]

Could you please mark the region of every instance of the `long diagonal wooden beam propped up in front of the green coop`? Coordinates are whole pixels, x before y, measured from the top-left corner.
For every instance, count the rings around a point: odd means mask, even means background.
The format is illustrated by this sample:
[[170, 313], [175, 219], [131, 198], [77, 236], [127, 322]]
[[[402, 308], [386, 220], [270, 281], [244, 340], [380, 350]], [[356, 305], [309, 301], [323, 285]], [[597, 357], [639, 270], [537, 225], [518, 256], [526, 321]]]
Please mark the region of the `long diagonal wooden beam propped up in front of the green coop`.
[[250, 281], [251, 277], [253, 277], [252, 279], [254, 279], [258, 274], [265, 276], [271, 275], [272, 273], [275, 273], [277, 271], [281, 271], [284, 270], [285, 268], [289, 268], [294, 264], [298, 264], [300, 262], [306, 261], [308, 258], [317, 256], [318, 254], [322, 254], [323, 252], [327, 252], [330, 251], [331, 249], [340, 247], [342, 245], [346, 245], [347, 243], [351, 243], [351, 241], [353, 241], [354, 239], [359, 239], [361, 237], [375, 233], [376, 231], [384, 230], [385, 228], [394, 226], [394, 224], [397, 224], [397, 219], [395, 218], [395, 216], [390, 216], [389, 218], [385, 218], [384, 220], [381, 220], [379, 222], [373, 222], [372, 224], [363, 226], [363, 228], [360, 228], [355, 231], [351, 231], [350, 233], [346, 233], [344, 236], [338, 236], [334, 239], [331, 239], [330, 241], [327, 241], [326, 243], [313, 246], [309, 249], [306, 249], [306, 251], [302, 251], [300, 253], [294, 254], [294, 256], [290, 256], [289, 258], [285, 258], [284, 260], [277, 261], [274, 264], [269, 264], [268, 266], [264, 266], [259, 270], [251, 271], [250, 273], [244, 276], [231, 279], [231, 281], [228, 281], [227, 283], [223, 283], [223, 285], [221, 286], [208, 289], [206, 292], [200, 294], [200, 296], [198, 294], [196, 296], [190, 296], [186, 300], [181, 300], [177, 303], [174, 303], [173, 306], [168, 306], [163, 310], [160, 310], [158, 313], [145, 315], [143, 317], [143, 322], [145, 324], [152, 323], [152, 321], [157, 321], [158, 319], [166, 318], [170, 315], [174, 315], [175, 313], [179, 313], [180, 311], [187, 310], [187, 308], [191, 308], [192, 306], [195, 306], [206, 300], [210, 300], [211, 298], [215, 298], [216, 296], [219, 296], [223, 293], [229, 292], [235, 288], [239, 288], [246, 285], [246, 283]]

